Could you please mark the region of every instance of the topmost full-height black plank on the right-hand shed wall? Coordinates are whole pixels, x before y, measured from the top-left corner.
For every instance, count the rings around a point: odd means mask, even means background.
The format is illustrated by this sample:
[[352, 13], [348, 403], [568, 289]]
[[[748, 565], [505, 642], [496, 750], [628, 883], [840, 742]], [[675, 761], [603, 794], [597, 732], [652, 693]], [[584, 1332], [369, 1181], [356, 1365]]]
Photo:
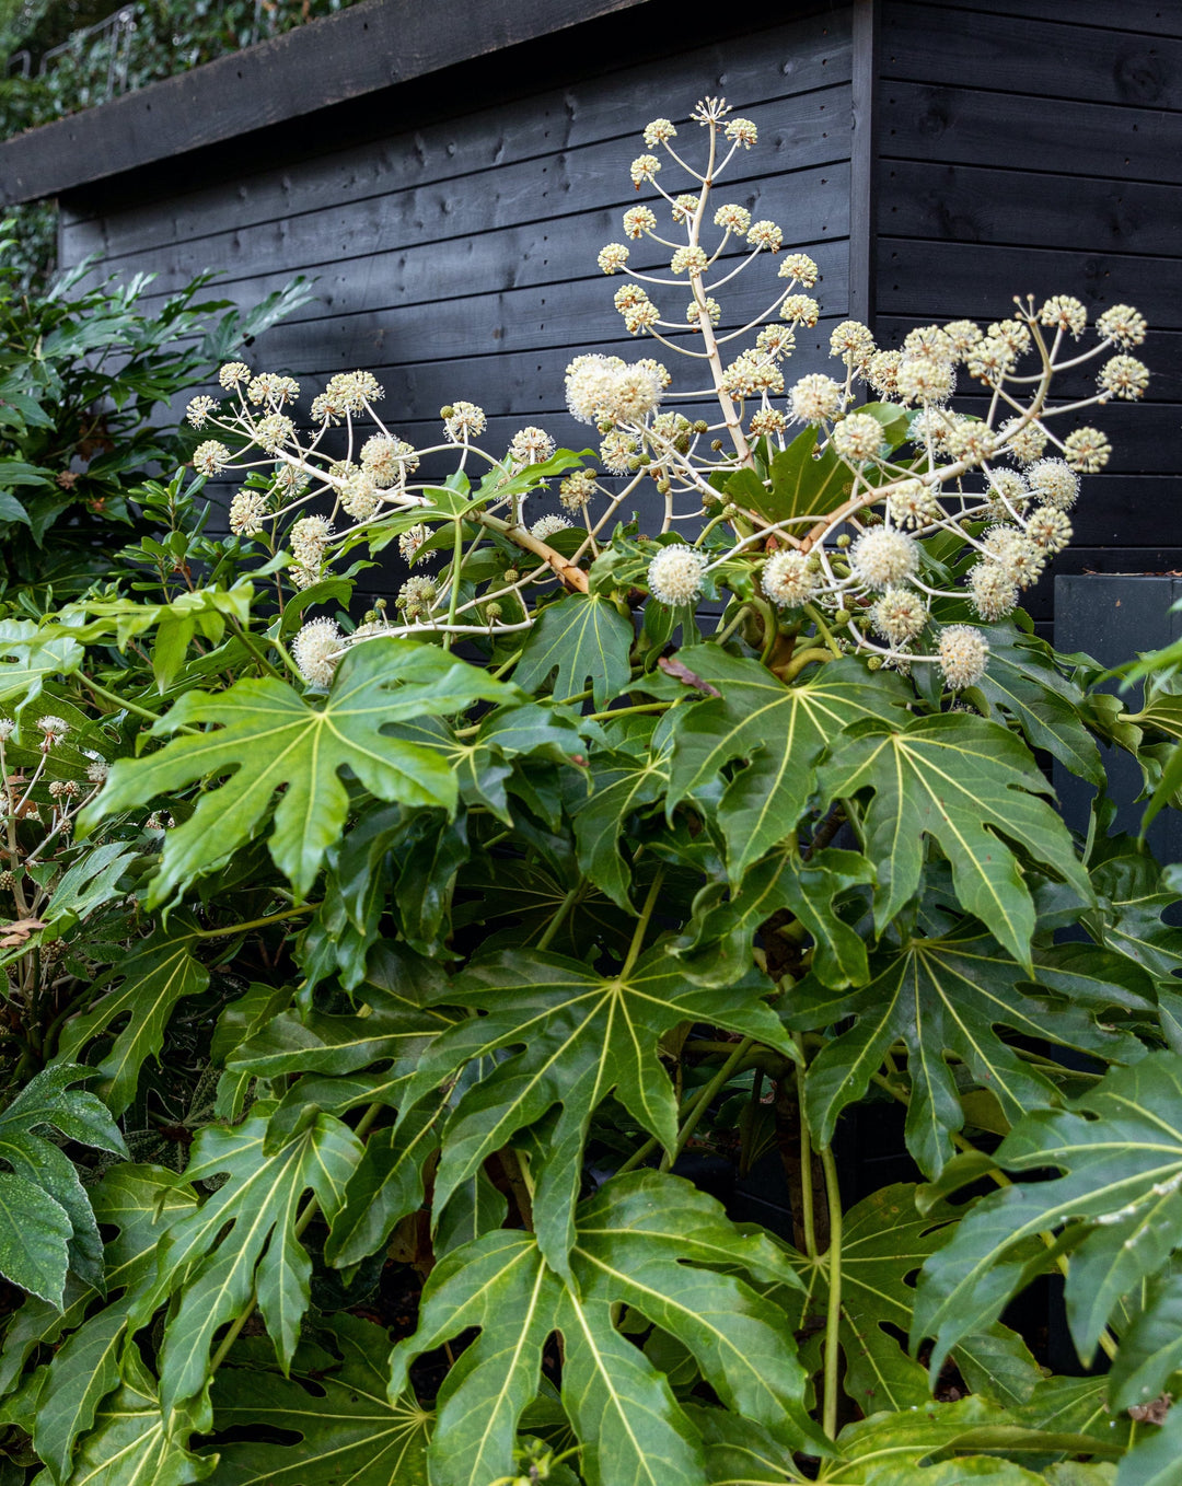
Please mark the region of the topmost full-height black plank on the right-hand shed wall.
[[[1182, 108], [1182, 39], [886, 0], [885, 79]], [[1014, 100], [1015, 111], [1021, 104]]]

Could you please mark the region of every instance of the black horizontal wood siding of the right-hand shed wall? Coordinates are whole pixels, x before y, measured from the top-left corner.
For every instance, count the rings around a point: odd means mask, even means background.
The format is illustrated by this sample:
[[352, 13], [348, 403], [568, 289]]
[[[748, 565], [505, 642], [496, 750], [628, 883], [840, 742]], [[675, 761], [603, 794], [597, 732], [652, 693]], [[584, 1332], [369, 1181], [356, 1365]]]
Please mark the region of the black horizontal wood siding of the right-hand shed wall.
[[[1182, 568], [1182, 10], [1154, 0], [882, 0], [876, 330], [1007, 315], [1014, 294], [1136, 305], [1143, 404], [1056, 571]], [[1085, 397], [1091, 373], [1065, 377]], [[963, 406], [975, 409], [978, 400]], [[1051, 583], [1032, 611], [1050, 617]]]

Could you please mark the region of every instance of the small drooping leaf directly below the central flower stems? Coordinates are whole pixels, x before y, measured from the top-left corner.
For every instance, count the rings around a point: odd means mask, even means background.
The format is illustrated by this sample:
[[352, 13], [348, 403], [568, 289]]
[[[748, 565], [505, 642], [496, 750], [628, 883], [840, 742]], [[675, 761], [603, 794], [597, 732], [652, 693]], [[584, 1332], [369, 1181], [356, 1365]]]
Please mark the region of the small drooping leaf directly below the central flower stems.
[[611, 600], [598, 593], [568, 593], [541, 611], [513, 679], [537, 691], [558, 667], [553, 691], [559, 701], [590, 685], [596, 707], [602, 707], [627, 685], [632, 639], [630, 621]]

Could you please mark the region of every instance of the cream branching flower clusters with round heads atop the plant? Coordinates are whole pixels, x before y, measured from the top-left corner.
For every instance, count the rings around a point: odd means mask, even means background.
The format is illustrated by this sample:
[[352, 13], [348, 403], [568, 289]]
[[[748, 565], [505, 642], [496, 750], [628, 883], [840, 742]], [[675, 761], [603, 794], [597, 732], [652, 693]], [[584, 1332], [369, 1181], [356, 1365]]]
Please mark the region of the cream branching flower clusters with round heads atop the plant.
[[[222, 369], [225, 401], [190, 403], [190, 424], [223, 435], [196, 449], [201, 473], [266, 471], [235, 495], [230, 528], [272, 550], [282, 535], [297, 588], [326, 577], [358, 542], [387, 533], [384, 545], [391, 520], [407, 562], [450, 550], [437, 577], [403, 584], [398, 623], [373, 612], [352, 636], [333, 621], [306, 624], [293, 651], [309, 684], [327, 685], [343, 646], [375, 633], [528, 630], [526, 591], [555, 581], [587, 591], [587, 560], [599, 556], [607, 523], [642, 481], [663, 499], [647, 566], [636, 574], [657, 603], [694, 606], [729, 590], [720, 630], [730, 633], [749, 615], [766, 657], [775, 655], [776, 637], [794, 642], [807, 623], [831, 651], [862, 652], [873, 666], [937, 664], [952, 691], [981, 678], [989, 642], [980, 626], [1005, 618], [1068, 545], [1079, 476], [1108, 464], [1105, 434], [1070, 424], [1084, 409], [1145, 392], [1148, 370], [1130, 355], [1145, 339], [1145, 319], [1127, 305], [1106, 309], [1094, 324], [1096, 343], [1084, 351], [1075, 343], [1087, 311], [1062, 294], [1041, 305], [1017, 299], [1010, 318], [984, 328], [968, 319], [919, 327], [898, 351], [879, 349], [867, 325], [847, 319], [830, 336], [836, 373], [789, 385], [785, 363], [797, 331], [819, 318], [807, 293], [818, 266], [804, 253], [784, 253], [767, 309], [726, 328], [720, 296], [757, 259], [779, 256], [784, 241], [776, 223], [752, 221], [746, 207], [714, 205], [720, 178], [755, 144], [755, 125], [718, 98], [700, 103], [693, 120], [706, 132], [702, 169], [678, 152], [668, 119], [645, 128], [650, 153], [630, 169], [636, 189], [656, 190], [672, 227], [662, 236], [656, 212], [638, 205], [623, 214], [623, 233], [668, 253], [668, 272], [633, 267], [627, 242], [607, 244], [598, 262], [626, 278], [616, 308], [627, 331], [694, 361], [697, 385], [675, 391], [665, 364], [648, 357], [575, 357], [566, 404], [596, 428], [605, 474], [565, 473], [561, 513], [528, 525], [523, 499], [577, 459], [556, 471], [553, 440], [532, 426], [500, 459], [488, 455], [477, 443], [486, 418], [473, 403], [445, 407], [443, 437], [427, 449], [385, 425], [376, 406], [382, 389], [366, 372], [329, 382], [312, 403], [306, 437], [291, 418], [299, 388], [287, 376], [251, 374], [232, 363]], [[688, 175], [693, 189], [666, 192], [665, 163]], [[676, 296], [688, 303], [675, 303]], [[1100, 363], [1096, 391], [1053, 406], [1056, 374], [1093, 360]], [[984, 412], [955, 409], [957, 389], [983, 394]], [[867, 395], [873, 401], [859, 406]], [[690, 416], [694, 404], [717, 404], [721, 416]], [[363, 437], [360, 424], [375, 431]], [[327, 447], [338, 426], [343, 453]], [[424, 461], [446, 450], [458, 453], [461, 474], [470, 462], [488, 471], [462, 520], [455, 504], [440, 508], [439, 481], [422, 477]], [[822, 483], [824, 499], [785, 501], [785, 470], [804, 459], [837, 467], [839, 478]], [[433, 539], [440, 525], [453, 529], [452, 542]], [[674, 535], [679, 526], [682, 541]], [[568, 535], [556, 545], [561, 532]], [[504, 574], [477, 591], [464, 565], [489, 538], [523, 560], [507, 559]]]

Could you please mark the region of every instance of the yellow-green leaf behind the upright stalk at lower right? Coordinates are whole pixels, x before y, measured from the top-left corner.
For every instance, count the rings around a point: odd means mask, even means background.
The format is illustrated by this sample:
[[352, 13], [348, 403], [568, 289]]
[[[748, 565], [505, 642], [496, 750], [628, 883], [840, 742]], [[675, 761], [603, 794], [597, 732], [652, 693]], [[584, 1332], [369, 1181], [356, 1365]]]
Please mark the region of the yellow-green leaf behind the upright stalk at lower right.
[[[959, 1217], [950, 1204], [916, 1211], [914, 1187], [882, 1187], [846, 1213], [842, 1223], [842, 1354], [843, 1386], [865, 1413], [880, 1409], [923, 1407], [929, 1398], [928, 1375], [898, 1342], [911, 1326], [911, 1276], [923, 1260], [952, 1236]], [[803, 1302], [789, 1306], [794, 1328], [807, 1330], [809, 1318], [824, 1326], [828, 1305], [830, 1256], [809, 1260], [792, 1256], [806, 1287]], [[792, 1302], [795, 1297], [789, 1297]], [[813, 1346], [821, 1330], [813, 1327]], [[1015, 1333], [995, 1327], [993, 1334], [969, 1336], [953, 1352], [975, 1392], [995, 1403], [1024, 1403], [1041, 1373]], [[810, 1358], [806, 1355], [806, 1363]], [[819, 1355], [816, 1358], [819, 1364]]]

